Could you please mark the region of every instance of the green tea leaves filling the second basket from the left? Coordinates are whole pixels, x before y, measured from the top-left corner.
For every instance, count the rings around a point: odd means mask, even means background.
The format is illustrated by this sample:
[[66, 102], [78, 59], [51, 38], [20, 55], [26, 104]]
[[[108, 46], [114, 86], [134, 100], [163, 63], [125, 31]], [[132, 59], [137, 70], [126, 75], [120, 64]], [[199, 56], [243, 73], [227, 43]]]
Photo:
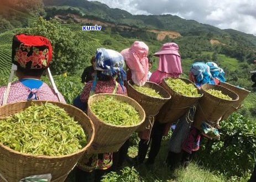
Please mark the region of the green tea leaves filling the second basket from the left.
[[139, 113], [132, 105], [112, 96], [93, 101], [91, 110], [99, 119], [112, 125], [129, 126], [140, 122]]

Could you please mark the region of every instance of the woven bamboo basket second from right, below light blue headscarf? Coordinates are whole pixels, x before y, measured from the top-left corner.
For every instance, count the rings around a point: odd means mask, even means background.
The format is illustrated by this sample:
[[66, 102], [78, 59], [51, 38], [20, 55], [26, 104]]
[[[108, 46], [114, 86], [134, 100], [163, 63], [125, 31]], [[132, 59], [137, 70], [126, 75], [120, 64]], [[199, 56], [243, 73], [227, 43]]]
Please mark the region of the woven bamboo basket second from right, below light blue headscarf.
[[[221, 85], [203, 84], [201, 88], [203, 97], [199, 100], [197, 107], [198, 109], [196, 110], [194, 116], [195, 127], [199, 130], [201, 130], [202, 121], [205, 121], [212, 127], [215, 127], [213, 125], [222, 121], [222, 116], [234, 103], [236, 103], [239, 98], [236, 93], [225, 87], [222, 87]], [[232, 98], [232, 100], [215, 97], [206, 92], [208, 89], [221, 90], [223, 94], [228, 95]]]

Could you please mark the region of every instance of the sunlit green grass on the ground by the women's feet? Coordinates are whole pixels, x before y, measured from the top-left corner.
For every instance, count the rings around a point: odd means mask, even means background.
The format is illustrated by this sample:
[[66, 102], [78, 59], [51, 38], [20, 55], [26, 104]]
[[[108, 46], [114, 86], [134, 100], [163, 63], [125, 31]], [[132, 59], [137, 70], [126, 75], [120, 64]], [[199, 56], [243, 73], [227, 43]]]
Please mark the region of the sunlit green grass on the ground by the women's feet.
[[[133, 139], [137, 137], [137, 134], [134, 133], [132, 136]], [[138, 138], [137, 138], [138, 139]], [[164, 137], [160, 152], [158, 157], [156, 157], [156, 162], [154, 167], [148, 168], [145, 164], [138, 165], [135, 167], [135, 173], [130, 173], [129, 175], [137, 175], [144, 182], [226, 182], [229, 181], [224, 178], [222, 174], [218, 174], [217, 172], [211, 171], [207, 167], [200, 166], [196, 161], [190, 163], [187, 168], [178, 168], [175, 171], [171, 171], [164, 164], [167, 151], [168, 151], [168, 143], [170, 139], [170, 133], [168, 137]], [[130, 157], [137, 156], [138, 153], [138, 140], [137, 143], [133, 146], [129, 147], [128, 154]], [[128, 163], [124, 163], [123, 168], [129, 167], [132, 169], [132, 165]], [[121, 172], [117, 172], [118, 175]], [[65, 182], [74, 182], [75, 176], [74, 172], [71, 172]], [[105, 180], [106, 181], [106, 180]], [[112, 180], [111, 180], [112, 181]], [[109, 182], [111, 182], [109, 180]], [[124, 180], [126, 181], [126, 180]], [[236, 180], [238, 182], [238, 180]], [[139, 182], [139, 181], [138, 181]], [[242, 182], [242, 181], [241, 181]]]

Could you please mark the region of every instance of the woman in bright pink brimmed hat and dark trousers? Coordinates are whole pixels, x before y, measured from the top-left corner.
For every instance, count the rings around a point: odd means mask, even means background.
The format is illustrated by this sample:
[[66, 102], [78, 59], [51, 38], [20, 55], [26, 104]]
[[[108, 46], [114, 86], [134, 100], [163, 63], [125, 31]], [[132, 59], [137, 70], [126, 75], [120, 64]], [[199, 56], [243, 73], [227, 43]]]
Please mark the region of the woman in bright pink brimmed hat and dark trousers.
[[[159, 57], [159, 66], [158, 69], [154, 71], [149, 78], [150, 82], [160, 84], [166, 77], [179, 77], [179, 75], [182, 73], [182, 68], [181, 58], [178, 51], [179, 46], [177, 44], [174, 42], [168, 42], [163, 44], [160, 51], [154, 53], [154, 56]], [[155, 157], [160, 150], [161, 140], [166, 128], [169, 130], [169, 125], [160, 124], [156, 117], [153, 128], [151, 130], [151, 135], [149, 131], [139, 132], [139, 151], [138, 156], [135, 158], [138, 164], [144, 162], [149, 148], [150, 140], [152, 142], [149, 151], [149, 158], [146, 163], [149, 165], [154, 164]]]

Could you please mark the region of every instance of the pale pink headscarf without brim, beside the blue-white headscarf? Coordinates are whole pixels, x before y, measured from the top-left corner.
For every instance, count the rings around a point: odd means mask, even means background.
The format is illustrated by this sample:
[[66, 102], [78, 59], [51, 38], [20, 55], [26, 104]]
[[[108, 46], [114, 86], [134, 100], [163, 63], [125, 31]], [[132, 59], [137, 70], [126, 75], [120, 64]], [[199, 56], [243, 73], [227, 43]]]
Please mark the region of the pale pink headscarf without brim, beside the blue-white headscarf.
[[128, 49], [121, 51], [127, 66], [132, 72], [133, 83], [142, 86], [148, 77], [148, 46], [142, 41], [133, 42]]

